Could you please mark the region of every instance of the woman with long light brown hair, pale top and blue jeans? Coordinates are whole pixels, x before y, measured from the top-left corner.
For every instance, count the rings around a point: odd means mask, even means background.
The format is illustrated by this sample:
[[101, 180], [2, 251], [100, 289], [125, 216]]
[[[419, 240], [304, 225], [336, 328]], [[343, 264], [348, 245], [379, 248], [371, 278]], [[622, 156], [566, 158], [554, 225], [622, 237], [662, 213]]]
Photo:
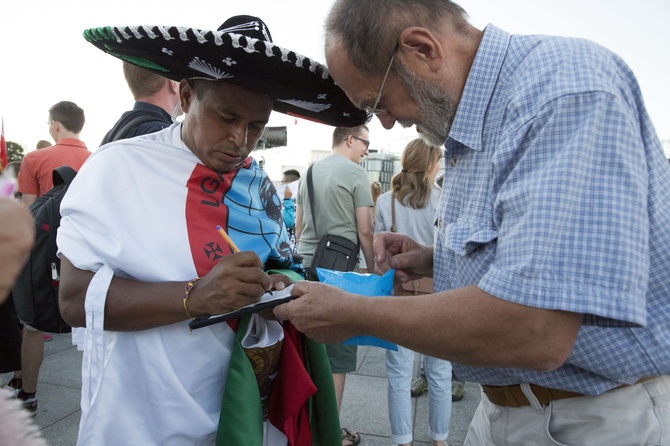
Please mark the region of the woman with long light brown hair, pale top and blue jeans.
[[[420, 243], [433, 243], [435, 210], [440, 188], [435, 176], [440, 170], [438, 147], [422, 139], [410, 141], [400, 158], [402, 170], [391, 180], [391, 190], [377, 200], [375, 233], [392, 231], [406, 234]], [[433, 282], [421, 279], [395, 287], [396, 295], [431, 294]], [[415, 352], [398, 346], [386, 351], [388, 405], [391, 441], [403, 446], [412, 442], [412, 403], [410, 387]], [[428, 423], [433, 446], [445, 446], [451, 419], [451, 364], [449, 361], [423, 356], [428, 381]]]

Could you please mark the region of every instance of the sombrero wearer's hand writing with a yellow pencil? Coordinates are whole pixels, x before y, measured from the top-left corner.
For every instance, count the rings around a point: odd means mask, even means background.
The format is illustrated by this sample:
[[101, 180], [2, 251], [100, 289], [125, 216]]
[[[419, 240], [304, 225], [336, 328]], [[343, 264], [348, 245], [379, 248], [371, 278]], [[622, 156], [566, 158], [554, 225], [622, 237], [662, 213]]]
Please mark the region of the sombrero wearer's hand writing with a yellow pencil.
[[188, 297], [191, 316], [223, 314], [258, 302], [273, 287], [263, 271], [263, 262], [252, 251], [222, 258], [201, 277]]

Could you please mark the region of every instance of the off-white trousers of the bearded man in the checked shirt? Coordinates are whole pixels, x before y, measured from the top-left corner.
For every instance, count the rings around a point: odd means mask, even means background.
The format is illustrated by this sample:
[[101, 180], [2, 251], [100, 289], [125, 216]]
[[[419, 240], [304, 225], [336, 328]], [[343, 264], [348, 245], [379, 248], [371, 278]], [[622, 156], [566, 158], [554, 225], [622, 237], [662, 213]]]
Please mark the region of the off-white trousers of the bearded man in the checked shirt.
[[595, 397], [502, 407], [482, 392], [464, 446], [670, 446], [670, 377]]

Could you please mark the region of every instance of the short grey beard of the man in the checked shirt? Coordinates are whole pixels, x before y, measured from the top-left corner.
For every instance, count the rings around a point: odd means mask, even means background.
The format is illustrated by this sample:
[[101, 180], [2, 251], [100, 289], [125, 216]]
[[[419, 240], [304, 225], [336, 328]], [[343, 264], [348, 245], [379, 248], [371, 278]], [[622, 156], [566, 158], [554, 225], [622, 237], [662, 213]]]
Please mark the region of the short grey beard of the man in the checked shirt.
[[[441, 147], [449, 137], [456, 106], [444, 91], [420, 79], [402, 63], [398, 64], [397, 73], [404, 88], [416, 101], [419, 111], [417, 131], [421, 139], [430, 146]], [[403, 127], [411, 125], [406, 121], [399, 121], [399, 124]]]

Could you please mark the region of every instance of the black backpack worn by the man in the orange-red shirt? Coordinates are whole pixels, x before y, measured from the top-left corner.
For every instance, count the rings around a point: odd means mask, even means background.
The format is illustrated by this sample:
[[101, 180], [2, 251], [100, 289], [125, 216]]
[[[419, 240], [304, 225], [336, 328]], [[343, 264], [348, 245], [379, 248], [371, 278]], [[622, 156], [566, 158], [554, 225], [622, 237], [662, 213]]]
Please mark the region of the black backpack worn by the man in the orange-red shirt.
[[56, 256], [56, 232], [60, 226], [60, 203], [76, 173], [70, 166], [54, 169], [54, 187], [30, 206], [35, 221], [35, 244], [12, 288], [21, 321], [48, 333], [71, 331], [58, 307], [60, 259]]

